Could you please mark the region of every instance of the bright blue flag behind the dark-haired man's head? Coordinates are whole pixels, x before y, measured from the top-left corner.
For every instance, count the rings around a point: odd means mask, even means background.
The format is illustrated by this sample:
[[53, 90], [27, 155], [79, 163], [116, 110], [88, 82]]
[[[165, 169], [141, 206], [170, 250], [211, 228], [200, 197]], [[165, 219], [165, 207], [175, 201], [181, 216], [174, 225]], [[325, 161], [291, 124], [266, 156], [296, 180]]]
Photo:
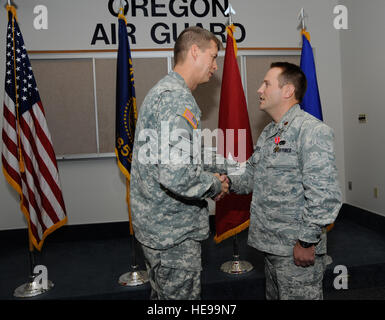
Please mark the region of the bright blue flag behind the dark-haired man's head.
[[302, 52], [300, 67], [307, 79], [307, 90], [302, 102], [300, 103], [300, 106], [303, 110], [322, 121], [323, 118], [321, 100], [318, 92], [313, 49], [309, 41], [309, 33], [307, 33], [305, 30], [302, 30]]

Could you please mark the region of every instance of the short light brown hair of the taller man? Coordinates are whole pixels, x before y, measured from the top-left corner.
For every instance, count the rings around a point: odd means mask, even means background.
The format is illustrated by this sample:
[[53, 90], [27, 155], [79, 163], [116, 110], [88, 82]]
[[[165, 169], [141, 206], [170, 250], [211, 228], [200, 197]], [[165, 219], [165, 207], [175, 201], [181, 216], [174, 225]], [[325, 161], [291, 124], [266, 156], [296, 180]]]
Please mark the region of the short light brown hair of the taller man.
[[204, 50], [214, 41], [218, 50], [223, 48], [219, 39], [210, 31], [201, 27], [189, 27], [184, 29], [178, 36], [174, 46], [174, 64], [181, 63], [186, 58], [186, 53], [193, 44]]

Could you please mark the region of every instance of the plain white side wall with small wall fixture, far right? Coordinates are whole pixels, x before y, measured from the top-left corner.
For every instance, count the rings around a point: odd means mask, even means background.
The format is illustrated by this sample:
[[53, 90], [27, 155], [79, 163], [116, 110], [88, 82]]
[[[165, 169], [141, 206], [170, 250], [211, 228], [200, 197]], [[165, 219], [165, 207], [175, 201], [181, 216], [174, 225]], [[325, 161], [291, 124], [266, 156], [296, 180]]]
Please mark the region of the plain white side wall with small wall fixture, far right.
[[[349, 12], [349, 30], [341, 32], [345, 172], [352, 181], [346, 202], [385, 215], [385, 2], [340, 2]], [[362, 113], [366, 124], [358, 121]]]

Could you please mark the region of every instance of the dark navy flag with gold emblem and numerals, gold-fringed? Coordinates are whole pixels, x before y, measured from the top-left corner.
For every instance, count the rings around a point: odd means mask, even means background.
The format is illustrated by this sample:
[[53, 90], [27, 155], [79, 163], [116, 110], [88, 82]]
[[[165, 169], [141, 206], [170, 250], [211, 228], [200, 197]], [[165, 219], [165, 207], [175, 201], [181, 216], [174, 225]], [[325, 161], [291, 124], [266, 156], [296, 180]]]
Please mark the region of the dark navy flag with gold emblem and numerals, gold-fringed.
[[134, 70], [127, 36], [127, 21], [118, 16], [119, 48], [116, 70], [116, 131], [115, 153], [118, 166], [130, 180], [132, 149], [137, 119]]

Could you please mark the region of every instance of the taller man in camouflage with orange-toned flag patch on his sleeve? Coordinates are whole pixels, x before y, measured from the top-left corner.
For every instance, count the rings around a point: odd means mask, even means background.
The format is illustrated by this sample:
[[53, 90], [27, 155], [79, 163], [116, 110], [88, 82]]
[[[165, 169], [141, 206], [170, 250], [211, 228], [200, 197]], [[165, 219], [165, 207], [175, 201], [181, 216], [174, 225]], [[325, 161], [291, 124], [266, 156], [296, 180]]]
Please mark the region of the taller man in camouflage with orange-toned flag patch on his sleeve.
[[[218, 174], [204, 171], [180, 143], [200, 153], [192, 139], [200, 129], [201, 110], [191, 91], [217, 70], [220, 48], [211, 32], [184, 30], [175, 43], [174, 70], [148, 92], [139, 111], [130, 199], [152, 299], [200, 298], [201, 241], [209, 236], [205, 198], [227, 192], [228, 185]], [[180, 134], [177, 141], [166, 137], [165, 142], [165, 132]], [[146, 161], [148, 149], [155, 162]], [[178, 159], [180, 154], [187, 162]]]

